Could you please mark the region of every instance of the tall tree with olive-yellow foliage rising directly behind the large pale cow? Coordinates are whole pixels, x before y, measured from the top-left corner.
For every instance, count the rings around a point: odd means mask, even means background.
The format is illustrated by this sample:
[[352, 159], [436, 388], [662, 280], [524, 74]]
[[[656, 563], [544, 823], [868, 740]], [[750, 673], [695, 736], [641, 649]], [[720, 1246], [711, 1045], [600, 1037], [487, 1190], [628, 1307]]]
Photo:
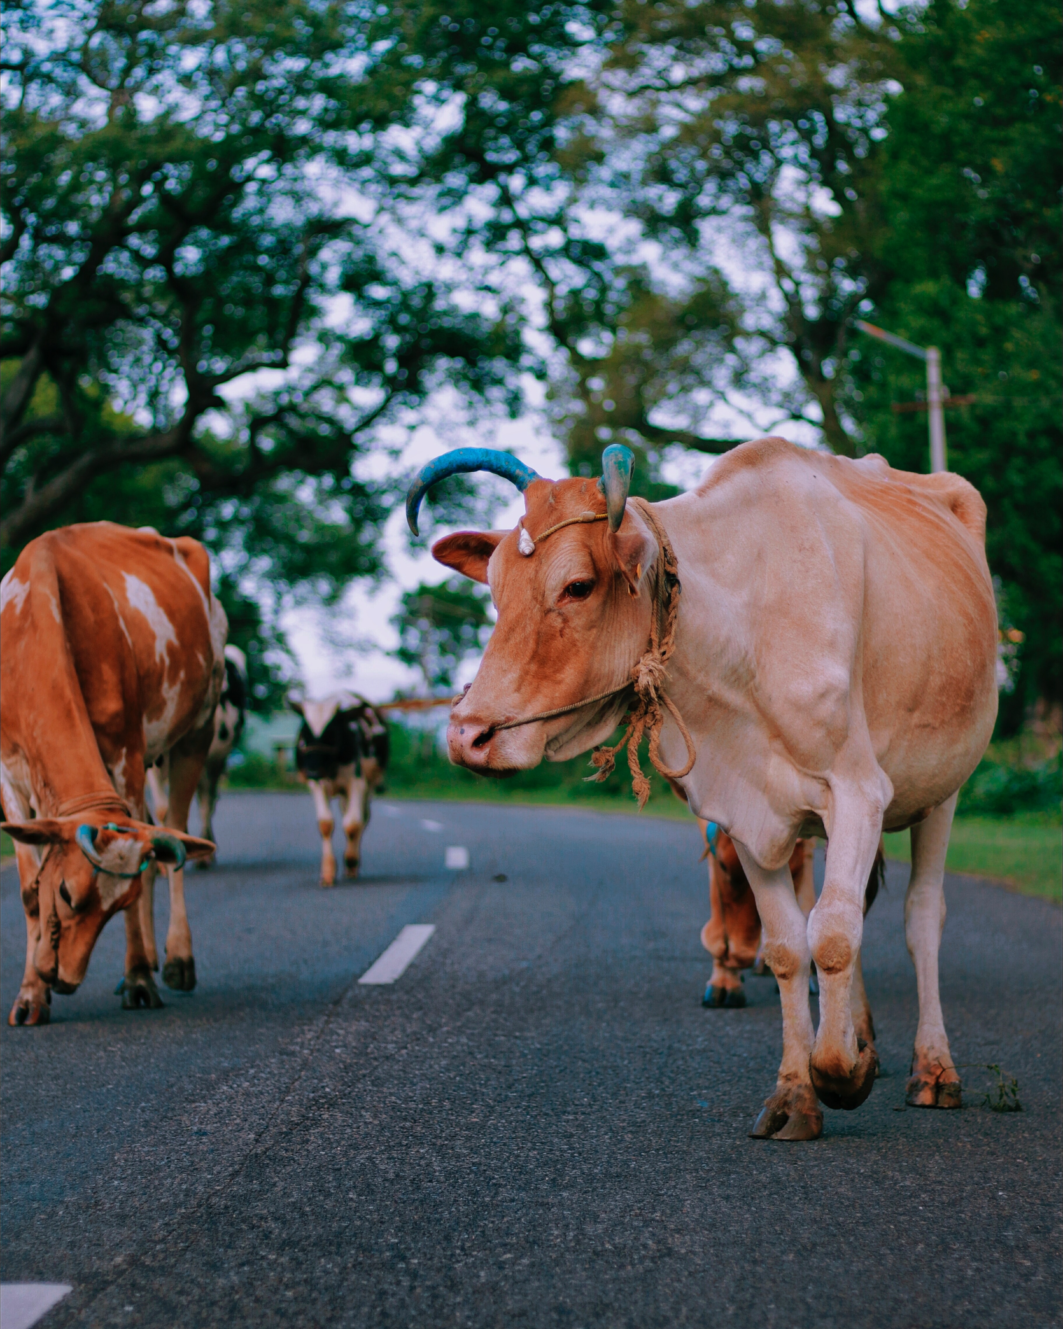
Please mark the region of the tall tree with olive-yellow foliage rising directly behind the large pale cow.
[[836, 369], [878, 282], [896, 29], [816, 0], [445, 9], [407, 24], [461, 110], [419, 179], [469, 214], [466, 251], [537, 283], [577, 469], [622, 437], [652, 474], [736, 421], [852, 452]]

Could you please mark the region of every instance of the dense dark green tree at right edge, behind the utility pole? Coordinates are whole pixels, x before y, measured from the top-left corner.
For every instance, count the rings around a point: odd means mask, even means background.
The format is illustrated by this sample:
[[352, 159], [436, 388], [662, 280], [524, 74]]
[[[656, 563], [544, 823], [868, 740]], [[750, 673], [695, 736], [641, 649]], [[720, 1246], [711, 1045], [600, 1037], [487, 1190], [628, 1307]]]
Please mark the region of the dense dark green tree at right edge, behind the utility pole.
[[[1026, 641], [999, 732], [1060, 699], [1060, 78], [1055, 7], [935, 0], [900, 16], [901, 92], [888, 109], [874, 322], [942, 347], [954, 397], [950, 469], [989, 506], [1003, 611]], [[1050, 61], [1052, 64], [1050, 64]], [[922, 365], [854, 344], [842, 399], [861, 447], [927, 469]]]

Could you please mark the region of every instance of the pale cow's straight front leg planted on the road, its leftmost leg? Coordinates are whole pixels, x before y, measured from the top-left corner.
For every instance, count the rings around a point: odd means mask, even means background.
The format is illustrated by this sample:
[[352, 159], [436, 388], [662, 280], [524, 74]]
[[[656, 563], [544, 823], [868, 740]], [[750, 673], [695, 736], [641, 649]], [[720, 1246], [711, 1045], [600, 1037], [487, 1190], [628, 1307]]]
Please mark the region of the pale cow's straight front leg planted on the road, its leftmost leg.
[[779, 983], [783, 1006], [783, 1062], [775, 1092], [749, 1132], [755, 1139], [815, 1140], [822, 1134], [822, 1111], [809, 1078], [812, 1014], [808, 1007], [808, 932], [793, 894], [789, 867], [760, 868], [748, 851], [736, 849], [753, 888], [764, 929], [765, 956]]

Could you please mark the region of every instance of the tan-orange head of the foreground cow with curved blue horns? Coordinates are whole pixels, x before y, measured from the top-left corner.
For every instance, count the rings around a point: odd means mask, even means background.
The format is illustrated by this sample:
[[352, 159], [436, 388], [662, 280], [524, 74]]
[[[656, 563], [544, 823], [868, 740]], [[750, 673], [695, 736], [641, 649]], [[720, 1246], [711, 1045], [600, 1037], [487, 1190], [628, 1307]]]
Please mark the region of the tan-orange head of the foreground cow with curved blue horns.
[[[627, 506], [631, 453], [618, 445], [594, 480], [543, 480], [504, 452], [462, 448], [429, 462], [411, 486], [407, 517], [429, 485], [492, 470], [525, 496], [516, 530], [462, 530], [432, 546], [438, 562], [490, 586], [498, 622], [474, 682], [450, 711], [450, 760], [481, 773], [565, 760], [603, 742], [619, 698], [517, 728], [501, 728], [630, 680], [646, 650], [658, 545]], [[586, 518], [586, 520], [581, 520]]]

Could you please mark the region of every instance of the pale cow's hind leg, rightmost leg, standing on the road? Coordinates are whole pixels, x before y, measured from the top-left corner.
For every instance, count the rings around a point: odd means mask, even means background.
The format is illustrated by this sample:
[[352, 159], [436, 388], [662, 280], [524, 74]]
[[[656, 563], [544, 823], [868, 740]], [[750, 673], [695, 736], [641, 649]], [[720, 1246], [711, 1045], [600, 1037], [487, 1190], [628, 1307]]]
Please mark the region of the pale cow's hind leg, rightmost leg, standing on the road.
[[938, 991], [938, 948], [945, 928], [945, 855], [955, 800], [953, 795], [912, 828], [905, 938], [919, 990], [919, 1027], [906, 1094], [913, 1107], [961, 1106], [962, 1086], [949, 1051]]

